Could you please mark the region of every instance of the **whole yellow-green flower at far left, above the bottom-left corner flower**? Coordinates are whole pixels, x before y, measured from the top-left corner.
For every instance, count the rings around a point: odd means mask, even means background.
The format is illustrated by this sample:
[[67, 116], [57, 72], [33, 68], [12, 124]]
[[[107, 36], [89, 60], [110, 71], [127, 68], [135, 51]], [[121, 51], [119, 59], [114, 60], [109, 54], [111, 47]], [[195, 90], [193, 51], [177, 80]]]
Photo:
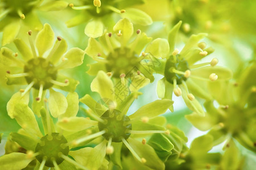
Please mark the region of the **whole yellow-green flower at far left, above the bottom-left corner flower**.
[[[11, 97], [7, 104], [7, 111], [9, 116], [13, 117], [12, 112], [16, 101], [26, 100], [28, 103], [28, 92], [32, 88], [34, 98], [32, 109], [39, 115], [40, 108], [44, 106], [44, 101], [41, 99], [44, 99], [49, 90], [49, 109], [52, 116], [57, 117], [58, 114], [65, 112], [67, 101], [60, 92], [54, 91], [53, 88], [73, 92], [79, 83], [75, 79], [60, 74], [59, 71], [81, 65], [84, 59], [84, 50], [72, 48], [65, 53], [67, 42], [61, 37], [57, 37], [53, 45], [55, 35], [49, 24], [45, 24], [38, 33], [35, 45], [31, 33], [31, 31], [28, 32], [31, 48], [28, 48], [21, 39], [14, 40], [19, 53], [14, 53], [6, 47], [1, 48], [0, 62], [9, 66], [10, 69], [6, 71], [6, 83], [9, 85], [27, 84], [26, 88]], [[51, 51], [48, 52], [49, 49]], [[16, 57], [19, 54], [23, 59]]]

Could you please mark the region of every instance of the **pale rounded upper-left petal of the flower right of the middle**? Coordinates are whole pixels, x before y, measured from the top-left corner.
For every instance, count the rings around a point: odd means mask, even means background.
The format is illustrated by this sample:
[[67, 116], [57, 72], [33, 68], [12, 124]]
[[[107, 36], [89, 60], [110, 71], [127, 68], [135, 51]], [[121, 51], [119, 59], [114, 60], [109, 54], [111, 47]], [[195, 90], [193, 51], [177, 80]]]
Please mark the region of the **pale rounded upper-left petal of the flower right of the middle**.
[[170, 52], [169, 43], [165, 39], [155, 39], [147, 46], [145, 52], [156, 58], [167, 58]]

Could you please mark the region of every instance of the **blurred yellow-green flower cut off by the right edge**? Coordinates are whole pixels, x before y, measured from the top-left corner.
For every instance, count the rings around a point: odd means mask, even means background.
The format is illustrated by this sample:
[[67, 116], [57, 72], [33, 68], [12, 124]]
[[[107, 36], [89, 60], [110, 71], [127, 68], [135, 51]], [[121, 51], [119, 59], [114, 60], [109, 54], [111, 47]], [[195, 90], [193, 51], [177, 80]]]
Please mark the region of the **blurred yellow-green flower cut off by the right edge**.
[[210, 130], [208, 134], [214, 137], [214, 145], [232, 137], [256, 152], [256, 82], [251, 79], [255, 73], [254, 63], [243, 71], [237, 83], [210, 83], [209, 91], [220, 106], [216, 108], [213, 101], [207, 101], [205, 117], [196, 116], [196, 113], [186, 116], [196, 128]]

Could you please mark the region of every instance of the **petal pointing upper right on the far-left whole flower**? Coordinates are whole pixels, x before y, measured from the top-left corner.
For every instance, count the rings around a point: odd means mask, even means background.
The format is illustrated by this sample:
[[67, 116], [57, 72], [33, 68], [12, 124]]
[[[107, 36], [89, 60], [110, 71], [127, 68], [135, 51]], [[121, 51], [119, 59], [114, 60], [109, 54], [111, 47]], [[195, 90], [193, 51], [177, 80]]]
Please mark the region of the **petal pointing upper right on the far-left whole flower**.
[[72, 48], [64, 55], [64, 61], [58, 66], [59, 69], [71, 69], [80, 66], [84, 61], [84, 50]]

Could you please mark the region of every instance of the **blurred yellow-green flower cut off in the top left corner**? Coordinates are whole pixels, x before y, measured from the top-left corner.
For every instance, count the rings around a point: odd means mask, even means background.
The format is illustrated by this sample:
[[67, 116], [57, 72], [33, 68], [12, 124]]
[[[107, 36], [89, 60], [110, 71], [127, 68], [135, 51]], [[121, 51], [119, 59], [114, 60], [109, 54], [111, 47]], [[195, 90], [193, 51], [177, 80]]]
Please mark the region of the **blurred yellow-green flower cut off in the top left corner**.
[[33, 31], [42, 29], [36, 10], [56, 11], [68, 6], [64, 1], [44, 0], [1, 0], [0, 31], [3, 32], [2, 45], [9, 44], [19, 34], [20, 28], [27, 25]]

